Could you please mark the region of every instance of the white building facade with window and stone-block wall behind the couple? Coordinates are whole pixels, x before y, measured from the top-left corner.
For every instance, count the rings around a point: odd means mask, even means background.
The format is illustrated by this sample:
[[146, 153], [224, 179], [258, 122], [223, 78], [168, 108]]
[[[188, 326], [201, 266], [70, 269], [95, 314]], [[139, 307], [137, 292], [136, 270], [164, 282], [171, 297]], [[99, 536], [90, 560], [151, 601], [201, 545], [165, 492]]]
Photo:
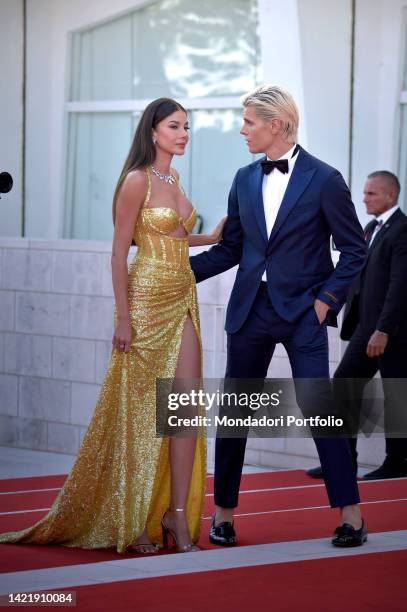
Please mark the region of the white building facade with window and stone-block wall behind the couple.
[[[149, 92], [164, 88], [157, 97], [183, 87], [178, 97], [190, 109], [196, 144], [193, 155], [181, 160], [180, 170], [208, 226], [226, 210], [227, 185], [236, 167], [250, 162], [238, 144], [239, 95], [244, 92], [239, 87], [257, 82], [279, 83], [293, 92], [301, 113], [301, 144], [341, 170], [362, 223], [367, 220], [363, 184], [372, 170], [399, 174], [406, 210], [407, 0], [248, 0], [250, 19], [242, 14], [235, 18], [247, 36], [246, 47], [252, 45], [250, 53], [230, 36], [233, 23], [225, 17], [229, 2], [221, 13], [216, 4], [0, 0], [5, 84], [0, 171], [14, 177], [13, 190], [0, 202], [0, 444], [72, 454], [78, 450], [110, 353], [111, 226], [105, 206]], [[245, 8], [243, 0], [237, 5]], [[139, 91], [143, 81], [128, 79], [136, 68], [130, 65], [133, 72], [127, 73], [124, 67], [122, 75], [117, 58], [110, 66], [100, 49], [105, 43], [116, 49], [116, 38], [122, 44], [123, 32], [130, 32], [133, 50], [143, 19], [150, 15], [156, 24], [157, 16], [165, 21], [169, 11], [187, 16], [195, 29], [191, 26], [189, 32], [185, 26], [174, 36], [172, 31], [160, 36], [158, 30], [154, 44], [150, 38], [143, 42], [141, 57], [134, 60], [137, 70], [145, 69], [144, 79], [156, 72], [164, 76], [155, 84], [150, 79], [151, 89]], [[213, 48], [220, 49], [217, 54], [197, 39], [202, 28]], [[151, 49], [161, 39], [169, 51], [152, 60]], [[222, 46], [225, 41], [230, 48]], [[86, 51], [90, 48], [99, 50], [102, 66], [95, 53]], [[180, 49], [192, 59], [177, 68], [167, 60], [183, 58]], [[218, 86], [205, 75], [213, 70], [217, 75], [222, 53], [222, 70], [230, 62], [236, 78]], [[88, 73], [86, 62], [93, 62]], [[251, 62], [247, 71], [243, 62]], [[187, 68], [195, 80], [187, 78]], [[79, 69], [85, 80], [78, 77]], [[195, 73], [202, 73], [206, 90], [197, 87]], [[104, 77], [111, 79], [106, 91], [101, 87]], [[120, 96], [109, 98], [120, 87]], [[219, 126], [223, 132], [217, 140]], [[211, 180], [216, 172], [218, 182]], [[106, 239], [94, 239], [99, 231]], [[233, 277], [230, 271], [199, 286], [207, 377], [224, 373], [223, 322]], [[343, 348], [337, 332], [330, 330], [332, 371]], [[290, 375], [282, 349], [269, 373]], [[210, 441], [210, 455], [212, 448]], [[363, 440], [360, 450], [362, 462], [381, 462], [381, 440]], [[314, 457], [311, 440], [250, 440], [246, 461], [295, 466], [311, 464]]]

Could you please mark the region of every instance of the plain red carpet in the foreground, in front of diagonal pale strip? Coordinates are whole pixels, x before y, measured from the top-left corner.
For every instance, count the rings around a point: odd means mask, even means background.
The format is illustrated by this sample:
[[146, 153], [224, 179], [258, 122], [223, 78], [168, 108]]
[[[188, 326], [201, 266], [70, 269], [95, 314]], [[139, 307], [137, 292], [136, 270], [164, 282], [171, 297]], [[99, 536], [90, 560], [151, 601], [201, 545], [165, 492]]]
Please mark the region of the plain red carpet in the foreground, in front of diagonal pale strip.
[[82, 611], [405, 612], [407, 552], [75, 587]]

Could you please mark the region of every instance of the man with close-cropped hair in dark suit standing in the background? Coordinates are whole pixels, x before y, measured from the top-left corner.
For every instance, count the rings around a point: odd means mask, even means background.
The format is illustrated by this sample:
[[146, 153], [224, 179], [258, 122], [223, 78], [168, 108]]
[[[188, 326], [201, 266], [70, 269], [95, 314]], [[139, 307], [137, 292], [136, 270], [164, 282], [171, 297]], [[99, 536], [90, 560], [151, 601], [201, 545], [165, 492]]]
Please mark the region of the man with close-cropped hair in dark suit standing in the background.
[[[407, 379], [407, 217], [397, 200], [398, 178], [386, 170], [369, 174], [364, 202], [375, 219], [365, 228], [368, 255], [361, 274], [351, 287], [341, 330], [350, 340], [335, 379], [348, 381], [353, 411], [360, 413], [363, 388], [379, 371], [384, 389], [385, 426], [401, 422], [405, 414]], [[399, 379], [397, 385], [394, 380]], [[390, 380], [388, 380], [390, 379]], [[404, 380], [404, 383], [403, 383]], [[350, 387], [349, 387], [350, 385]], [[404, 402], [404, 405], [402, 405]], [[394, 432], [393, 432], [394, 435]], [[350, 440], [357, 469], [357, 438]], [[321, 467], [307, 472], [322, 477]], [[365, 480], [398, 478], [407, 475], [407, 439], [386, 437], [386, 458]]]

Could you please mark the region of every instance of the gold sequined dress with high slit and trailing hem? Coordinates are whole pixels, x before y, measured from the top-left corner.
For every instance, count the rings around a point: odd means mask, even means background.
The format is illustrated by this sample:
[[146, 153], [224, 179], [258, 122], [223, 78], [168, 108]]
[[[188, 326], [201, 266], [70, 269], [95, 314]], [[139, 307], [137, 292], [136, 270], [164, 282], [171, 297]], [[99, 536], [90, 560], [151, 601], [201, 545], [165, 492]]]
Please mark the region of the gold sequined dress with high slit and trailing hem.
[[[172, 208], [152, 208], [151, 177], [137, 218], [137, 253], [129, 267], [133, 341], [112, 351], [95, 412], [77, 459], [48, 514], [34, 526], [0, 535], [2, 543], [126, 548], [147, 526], [161, 542], [161, 517], [170, 501], [169, 440], [156, 437], [156, 378], [173, 378], [189, 315], [201, 346], [195, 279], [188, 238], [170, 236], [188, 219]], [[202, 349], [201, 349], [202, 354]], [[205, 438], [199, 435], [187, 503], [194, 542], [199, 539], [206, 477]]]

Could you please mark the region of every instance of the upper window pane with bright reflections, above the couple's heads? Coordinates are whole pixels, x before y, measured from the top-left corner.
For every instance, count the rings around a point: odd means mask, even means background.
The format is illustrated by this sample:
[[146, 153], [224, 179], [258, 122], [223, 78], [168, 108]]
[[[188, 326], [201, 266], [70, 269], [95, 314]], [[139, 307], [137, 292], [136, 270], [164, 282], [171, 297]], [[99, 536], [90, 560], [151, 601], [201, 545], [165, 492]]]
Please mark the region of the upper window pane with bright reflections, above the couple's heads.
[[71, 100], [240, 95], [258, 63], [255, 0], [163, 0], [74, 35]]

